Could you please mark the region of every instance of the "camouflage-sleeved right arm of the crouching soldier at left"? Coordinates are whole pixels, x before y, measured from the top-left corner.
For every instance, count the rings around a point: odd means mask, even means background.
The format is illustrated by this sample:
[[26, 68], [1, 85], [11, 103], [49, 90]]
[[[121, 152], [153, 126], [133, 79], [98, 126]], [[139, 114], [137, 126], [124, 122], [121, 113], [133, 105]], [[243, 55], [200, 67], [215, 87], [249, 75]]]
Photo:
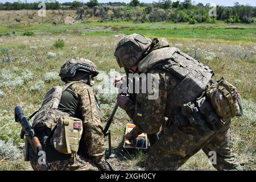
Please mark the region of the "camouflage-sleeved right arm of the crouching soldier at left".
[[81, 89], [79, 94], [80, 111], [84, 118], [84, 140], [88, 147], [88, 156], [95, 163], [100, 163], [105, 152], [104, 134], [102, 133], [103, 126], [97, 112], [93, 89], [90, 86], [83, 86], [79, 89]]

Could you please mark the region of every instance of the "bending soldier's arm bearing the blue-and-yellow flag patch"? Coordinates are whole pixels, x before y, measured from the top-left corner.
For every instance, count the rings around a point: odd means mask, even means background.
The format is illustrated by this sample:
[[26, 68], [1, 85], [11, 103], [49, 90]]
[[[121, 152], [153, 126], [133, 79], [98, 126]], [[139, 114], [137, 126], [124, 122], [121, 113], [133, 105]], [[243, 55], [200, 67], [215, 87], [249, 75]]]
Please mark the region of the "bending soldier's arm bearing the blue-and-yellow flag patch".
[[[136, 127], [131, 131], [131, 134], [137, 135], [139, 133], [154, 134], [160, 129], [164, 121], [164, 113], [167, 101], [167, 84], [166, 73], [161, 69], [152, 70], [149, 73], [156, 74], [158, 77], [158, 88], [153, 89], [154, 92], [137, 94], [134, 105], [133, 122]], [[154, 85], [154, 81], [152, 81]], [[158, 94], [155, 100], [150, 100], [150, 96]]]

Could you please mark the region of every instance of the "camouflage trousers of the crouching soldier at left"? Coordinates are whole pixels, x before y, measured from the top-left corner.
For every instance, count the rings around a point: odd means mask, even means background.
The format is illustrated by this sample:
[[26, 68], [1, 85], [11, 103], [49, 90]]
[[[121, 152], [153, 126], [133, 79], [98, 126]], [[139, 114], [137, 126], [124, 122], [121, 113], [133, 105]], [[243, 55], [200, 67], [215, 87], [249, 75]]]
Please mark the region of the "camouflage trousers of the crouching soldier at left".
[[[38, 162], [30, 161], [31, 167], [35, 171], [46, 171], [44, 165]], [[96, 164], [93, 164], [89, 159], [73, 159], [59, 160], [54, 162], [47, 162], [49, 170], [51, 171], [98, 171]]]

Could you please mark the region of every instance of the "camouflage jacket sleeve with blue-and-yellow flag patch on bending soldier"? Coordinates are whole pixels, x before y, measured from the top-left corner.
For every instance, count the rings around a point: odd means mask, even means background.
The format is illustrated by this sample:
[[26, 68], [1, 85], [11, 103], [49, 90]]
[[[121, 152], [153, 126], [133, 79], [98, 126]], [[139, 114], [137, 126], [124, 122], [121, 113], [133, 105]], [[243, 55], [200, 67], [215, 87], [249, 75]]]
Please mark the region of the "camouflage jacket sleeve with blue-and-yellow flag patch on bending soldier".
[[[131, 131], [134, 135], [140, 133], [154, 134], [158, 133], [163, 125], [165, 118], [171, 117], [171, 110], [168, 105], [168, 90], [176, 84], [176, 80], [171, 77], [171, 74], [163, 69], [152, 69], [150, 72], [157, 75], [159, 78], [159, 89], [156, 100], [149, 100], [148, 97], [154, 93], [139, 93], [136, 94], [135, 102], [126, 102], [126, 113], [133, 119], [135, 128]], [[171, 79], [172, 78], [172, 79]], [[140, 84], [141, 85], [141, 84]]]

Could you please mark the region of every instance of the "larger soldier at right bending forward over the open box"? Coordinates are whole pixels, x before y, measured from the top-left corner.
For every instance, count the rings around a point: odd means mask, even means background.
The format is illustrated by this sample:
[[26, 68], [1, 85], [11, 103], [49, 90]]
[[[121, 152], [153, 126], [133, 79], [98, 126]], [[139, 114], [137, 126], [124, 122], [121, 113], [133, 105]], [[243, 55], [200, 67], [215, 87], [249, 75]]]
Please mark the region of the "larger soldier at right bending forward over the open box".
[[[233, 85], [224, 78], [213, 82], [212, 69], [170, 47], [166, 39], [127, 35], [117, 44], [115, 58], [126, 75], [151, 74], [158, 81], [152, 93], [137, 93], [135, 100], [117, 96], [118, 106], [136, 125], [126, 139], [157, 133], [162, 125], [167, 128], [151, 146], [145, 170], [176, 170], [201, 149], [208, 158], [215, 152], [214, 168], [241, 169], [231, 148], [230, 119], [242, 114], [240, 95]], [[147, 84], [154, 86], [152, 80], [146, 77]], [[120, 82], [121, 78], [115, 80]], [[143, 78], [140, 91], [141, 85]], [[158, 97], [150, 99], [155, 93]]]

